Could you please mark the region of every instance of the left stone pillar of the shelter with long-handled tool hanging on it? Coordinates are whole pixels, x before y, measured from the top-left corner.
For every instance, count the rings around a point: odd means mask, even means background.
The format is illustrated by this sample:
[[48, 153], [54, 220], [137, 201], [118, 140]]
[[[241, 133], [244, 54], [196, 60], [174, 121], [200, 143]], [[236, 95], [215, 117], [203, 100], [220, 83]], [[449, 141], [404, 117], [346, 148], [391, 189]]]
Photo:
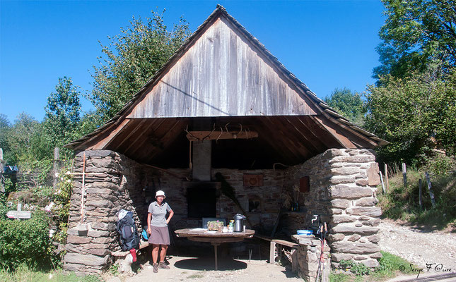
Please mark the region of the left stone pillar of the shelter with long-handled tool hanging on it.
[[[84, 153], [86, 173], [81, 220]], [[146, 210], [139, 179], [141, 166], [108, 150], [81, 152], [76, 155], [74, 166], [64, 269], [83, 275], [101, 274], [111, 262], [111, 252], [119, 250], [115, 228], [117, 212], [120, 209], [134, 212], [137, 226], [142, 226], [137, 216]]]

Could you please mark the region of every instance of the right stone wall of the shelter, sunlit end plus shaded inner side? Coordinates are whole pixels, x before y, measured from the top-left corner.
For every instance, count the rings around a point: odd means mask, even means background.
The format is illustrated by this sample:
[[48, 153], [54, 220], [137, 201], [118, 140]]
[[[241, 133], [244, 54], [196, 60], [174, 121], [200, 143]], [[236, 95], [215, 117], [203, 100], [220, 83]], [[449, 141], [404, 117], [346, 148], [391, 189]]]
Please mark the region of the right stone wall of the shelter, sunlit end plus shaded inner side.
[[377, 235], [381, 210], [375, 207], [380, 183], [375, 154], [369, 149], [329, 149], [302, 165], [288, 168], [285, 187], [310, 176], [310, 192], [301, 193], [302, 213], [292, 213], [291, 232], [310, 226], [312, 214], [328, 223], [332, 265], [341, 259], [378, 266], [381, 257]]

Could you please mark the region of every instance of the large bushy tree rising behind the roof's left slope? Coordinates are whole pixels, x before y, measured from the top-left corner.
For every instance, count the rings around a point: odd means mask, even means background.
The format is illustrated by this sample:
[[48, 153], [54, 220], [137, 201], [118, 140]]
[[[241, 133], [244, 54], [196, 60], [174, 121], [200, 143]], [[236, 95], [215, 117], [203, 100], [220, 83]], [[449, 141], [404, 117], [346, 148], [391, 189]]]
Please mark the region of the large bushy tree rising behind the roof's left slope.
[[100, 66], [93, 67], [88, 98], [103, 121], [115, 116], [189, 36], [183, 18], [168, 31], [163, 13], [152, 13], [146, 23], [133, 18], [120, 35], [108, 37], [107, 46], [100, 43], [103, 56], [98, 58]]

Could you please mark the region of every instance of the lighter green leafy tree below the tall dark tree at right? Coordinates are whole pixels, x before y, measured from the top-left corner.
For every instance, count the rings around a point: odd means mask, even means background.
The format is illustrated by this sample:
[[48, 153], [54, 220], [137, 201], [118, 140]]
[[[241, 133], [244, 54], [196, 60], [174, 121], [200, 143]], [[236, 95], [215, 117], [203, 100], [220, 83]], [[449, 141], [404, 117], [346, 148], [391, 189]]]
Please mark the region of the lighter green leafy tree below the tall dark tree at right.
[[382, 161], [421, 165], [436, 147], [455, 154], [456, 74], [436, 74], [385, 75], [368, 87], [366, 128], [391, 142], [378, 149]]

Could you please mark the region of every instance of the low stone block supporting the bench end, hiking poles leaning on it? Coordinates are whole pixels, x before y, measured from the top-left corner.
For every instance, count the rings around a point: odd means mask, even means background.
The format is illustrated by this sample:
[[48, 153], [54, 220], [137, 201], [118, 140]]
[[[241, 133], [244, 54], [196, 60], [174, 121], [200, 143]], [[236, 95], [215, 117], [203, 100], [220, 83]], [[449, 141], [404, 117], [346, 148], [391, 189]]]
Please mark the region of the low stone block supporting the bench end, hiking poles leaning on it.
[[305, 281], [315, 281], [315, 278], [319, 275], [322, 277], [322, 282], [329, 282], [331, 264], [329, 262], [329, 247], [327, 242], [325, 242], [323, 246], [324, 252], [322, 261], [320, 262], [320, 257], [322, 255], [322, 240], [319, 240], [314, 236], [301, 235], [293, 235], [292, 238], [299, 244], [298, 250], [296, 250], [296, 252], [298, 252], [296, 255], [296, 258], [298, 259], [298, 276]]

